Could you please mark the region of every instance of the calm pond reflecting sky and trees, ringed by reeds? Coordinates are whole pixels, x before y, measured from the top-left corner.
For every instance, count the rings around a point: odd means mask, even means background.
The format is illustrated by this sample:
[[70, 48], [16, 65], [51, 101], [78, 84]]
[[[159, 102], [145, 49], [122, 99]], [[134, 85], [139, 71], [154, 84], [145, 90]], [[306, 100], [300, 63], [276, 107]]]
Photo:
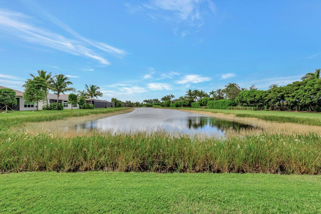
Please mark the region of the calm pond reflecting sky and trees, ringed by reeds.
[[77, 130], [98, 129], [112, 132], [165, 130], [181, 134], [224, 135], [226, 129], [250, 129], [252, 126], [216, 119], [200, 114], [159, 108], [135, 108], [126, 114], [87, 121], [76, 125]]

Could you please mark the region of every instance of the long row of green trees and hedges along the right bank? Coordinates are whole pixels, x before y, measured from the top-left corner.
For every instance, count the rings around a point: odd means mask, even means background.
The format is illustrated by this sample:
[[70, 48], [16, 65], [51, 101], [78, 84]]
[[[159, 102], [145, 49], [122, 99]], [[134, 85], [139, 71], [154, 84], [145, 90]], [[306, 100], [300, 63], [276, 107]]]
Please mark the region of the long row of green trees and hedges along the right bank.
[[[171, 94], [161, 98], [161, 101], [163, 101], [163, 103], [177, 103], [178, 101], [193, 99], [195, 102], [201, 102], [202, 105], [208, 100], [231, 99], [242, 106], [261, 107], [266, 110], [274, 110], [275, 107], [283, 110], [286, 107], [288, 110], [320, 111], [320, 69], [315, 70], [313, 73], [305, 74], [301, 80], [302, 81], [296, 81], [283, 87], [279, 87], [279, 83], [272, 84], [268, 90], [258, 90], [255, 85], [249, 88], [241, 88], [237, 83], [229, 83], [225, 85], [224, 89], [212, 90], [209, 93], [203, 90], [188, 89], [185, 96], [173, 99], [175, 96]], [[152, 103], [149, 102], [150, 100], [144, 100], [144, 102]]]

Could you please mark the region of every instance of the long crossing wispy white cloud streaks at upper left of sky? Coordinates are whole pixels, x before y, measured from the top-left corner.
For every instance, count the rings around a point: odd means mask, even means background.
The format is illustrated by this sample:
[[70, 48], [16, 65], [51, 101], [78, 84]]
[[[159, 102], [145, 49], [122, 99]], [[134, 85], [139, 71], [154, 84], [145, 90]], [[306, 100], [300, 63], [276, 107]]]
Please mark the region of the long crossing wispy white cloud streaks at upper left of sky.
[[30, 23], [30, 21], [34, 20], [32, 20], [29, 16], [4, 9], [0, 9], [0, 26], [2, 28], [1, 33], [5, 33], [13, 37], [19, 37], [26, 42], [31, 42], [74, 55], [95, 59], [104, 65], [109, 65], [109, 61], [92, 49], [85, 47], [84, 44], [82, 44], [83, 42], [87, 42], [95, 48], [120, 57], [126, 54], [126, 51], [117, 49], [105, 43], [87, 40], [74, 32], [64, 23], [55, 20], [55, 18], [52, 16], [51, 18], [52, 22], [56, 23], [58, 26], [62, 27], [81, 41], [66, 38], [60, 34], [48, 31], [45, 28], [36, 27]]

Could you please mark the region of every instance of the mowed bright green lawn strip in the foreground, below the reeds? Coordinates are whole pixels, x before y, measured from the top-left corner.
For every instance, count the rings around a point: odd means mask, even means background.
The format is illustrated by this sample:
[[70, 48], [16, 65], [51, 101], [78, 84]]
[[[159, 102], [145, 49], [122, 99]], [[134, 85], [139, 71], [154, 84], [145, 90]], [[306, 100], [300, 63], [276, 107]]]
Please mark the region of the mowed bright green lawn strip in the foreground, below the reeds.
[[22, 172], [0, 213], [321, 213], [321, 176]]

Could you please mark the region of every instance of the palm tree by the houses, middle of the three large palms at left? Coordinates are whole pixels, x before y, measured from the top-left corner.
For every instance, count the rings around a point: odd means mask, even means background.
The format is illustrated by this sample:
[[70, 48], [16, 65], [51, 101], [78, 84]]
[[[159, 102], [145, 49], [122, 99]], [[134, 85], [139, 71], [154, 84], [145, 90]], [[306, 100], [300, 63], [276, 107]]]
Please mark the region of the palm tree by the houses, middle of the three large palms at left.
[[53, 82], [49, 84], [49, 89], [55, 91], [57, 94], [57, 105], [59, 102], [60, 93], [65, 94], [66, 91], [76, 91], [75, 88], [69, 88], [68, 85], [72, 85], [73, 83], [69, 81], [69, 78], [63, 74], [58, 74], [54, 76]]

